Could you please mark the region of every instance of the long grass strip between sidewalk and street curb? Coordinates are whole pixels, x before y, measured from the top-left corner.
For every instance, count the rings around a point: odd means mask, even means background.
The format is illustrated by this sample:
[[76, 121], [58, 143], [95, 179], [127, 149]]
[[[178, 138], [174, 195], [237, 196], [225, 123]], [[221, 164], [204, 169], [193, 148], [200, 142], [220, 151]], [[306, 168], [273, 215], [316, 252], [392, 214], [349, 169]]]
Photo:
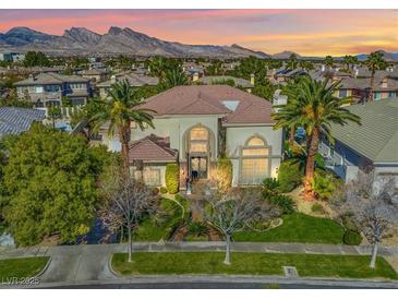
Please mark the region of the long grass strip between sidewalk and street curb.
[[138, 252], [133, 262], [126, 262], [125, 253], [112, 256], [112, 267], [121, 275], [168, 275], [168, 274], [241, 274], [284, 275], [282, 266], [296, 266], [300, 276], [391, 278], [397, 273], [383, 259], [376, 267], [369, 267], [370, 256], [242, 253], [231, 254], [231, 265], [222, 263], [222, 252]]

